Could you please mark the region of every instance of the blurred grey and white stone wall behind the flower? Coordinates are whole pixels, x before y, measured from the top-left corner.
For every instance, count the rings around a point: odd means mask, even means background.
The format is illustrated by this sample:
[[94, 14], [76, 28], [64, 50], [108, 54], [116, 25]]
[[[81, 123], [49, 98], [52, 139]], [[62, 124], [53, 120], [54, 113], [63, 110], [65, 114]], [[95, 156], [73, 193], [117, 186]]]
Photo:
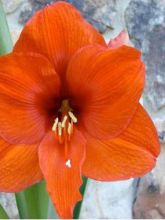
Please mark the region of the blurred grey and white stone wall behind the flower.
[[[33, 13], [52, 0], [2, 0], [15, 42]], [[155, 169], [139, 179], [90, 181], [81, 218], [165, 218], [165, 0], [68, 0], [107, 41], [127, 29], [147, 67], [143, 105], [158, 130], [161, 154]], [[12, 194], [0, 193], [0, 203], [17, 218]]]

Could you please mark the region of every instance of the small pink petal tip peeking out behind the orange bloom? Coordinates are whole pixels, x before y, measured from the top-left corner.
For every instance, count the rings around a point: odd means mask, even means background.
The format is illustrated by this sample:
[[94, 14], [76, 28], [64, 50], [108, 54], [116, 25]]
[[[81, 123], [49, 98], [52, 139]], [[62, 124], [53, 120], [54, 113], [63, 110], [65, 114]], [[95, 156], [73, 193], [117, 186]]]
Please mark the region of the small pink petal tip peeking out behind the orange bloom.
[[110, 40], [110, 42], [108, 43], [109, 48], [117, 48], [121, 47], [122, 45], [130, 45], [128, 32], [126, 30], [121, 31], [117, 37]]

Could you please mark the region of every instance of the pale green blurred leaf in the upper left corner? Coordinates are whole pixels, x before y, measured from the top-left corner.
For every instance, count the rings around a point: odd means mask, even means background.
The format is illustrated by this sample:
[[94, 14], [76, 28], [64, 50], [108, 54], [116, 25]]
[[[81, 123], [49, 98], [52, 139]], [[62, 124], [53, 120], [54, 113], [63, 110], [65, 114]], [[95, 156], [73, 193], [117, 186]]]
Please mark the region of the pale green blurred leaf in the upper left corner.
[[0, 0], [0, 55], [11, 52], [13, 43], [11, 40], [5, 12]]

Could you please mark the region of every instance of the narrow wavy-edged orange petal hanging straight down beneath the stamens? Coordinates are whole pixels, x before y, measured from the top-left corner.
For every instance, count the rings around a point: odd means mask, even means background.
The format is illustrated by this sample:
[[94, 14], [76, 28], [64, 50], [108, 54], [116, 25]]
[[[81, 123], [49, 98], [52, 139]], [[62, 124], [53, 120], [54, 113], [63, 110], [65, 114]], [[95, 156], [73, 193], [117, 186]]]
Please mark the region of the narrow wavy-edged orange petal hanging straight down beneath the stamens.
[[72, 218], [74, 205], [81, 200], [79, 188], [85, 156], [85, 140], [79, 131], [74, 131], [68, 149], [67, 159], [71, 161], [71, 168], [65, 165], [64, 155], [64, 146], [50, 132], [39, 148], [40, 167], [57, 213], [61, 218]]

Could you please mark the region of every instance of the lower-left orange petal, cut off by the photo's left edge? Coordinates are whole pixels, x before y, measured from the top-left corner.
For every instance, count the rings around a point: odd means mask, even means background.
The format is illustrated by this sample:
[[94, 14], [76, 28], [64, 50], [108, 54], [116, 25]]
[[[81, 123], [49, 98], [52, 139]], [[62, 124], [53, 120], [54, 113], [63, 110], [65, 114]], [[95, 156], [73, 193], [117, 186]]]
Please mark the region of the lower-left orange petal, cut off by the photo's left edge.
[[11, 145], [0, 139], [0, 191], [19, 192], [42, 180], [37, 146]]

